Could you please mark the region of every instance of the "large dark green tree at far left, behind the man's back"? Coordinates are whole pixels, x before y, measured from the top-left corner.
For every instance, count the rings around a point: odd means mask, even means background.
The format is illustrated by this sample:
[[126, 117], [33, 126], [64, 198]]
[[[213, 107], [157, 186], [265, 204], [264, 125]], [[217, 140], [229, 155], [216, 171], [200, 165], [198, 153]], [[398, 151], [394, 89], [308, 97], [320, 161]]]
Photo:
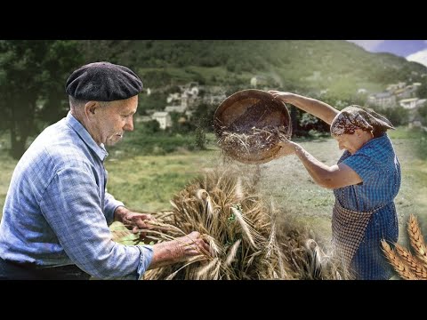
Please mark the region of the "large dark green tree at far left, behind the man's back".
[[64, 84], [79, 62], [73, 41], [0, 41], [0, 130], [10, 132], [13, 158], [24, 153], [37, 121], [52, 122], [63, 112]]

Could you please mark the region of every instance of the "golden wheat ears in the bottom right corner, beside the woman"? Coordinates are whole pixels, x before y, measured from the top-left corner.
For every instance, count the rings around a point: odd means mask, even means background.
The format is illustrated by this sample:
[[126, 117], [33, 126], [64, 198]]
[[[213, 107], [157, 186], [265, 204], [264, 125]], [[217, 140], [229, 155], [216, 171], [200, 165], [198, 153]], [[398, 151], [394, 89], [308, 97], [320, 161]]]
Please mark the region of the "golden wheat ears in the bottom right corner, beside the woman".
[[391, 246], [385, 240], [381, 241], [383, 252], [401, 278], [406, 280], [427, 280], [427, 247], [414, 214], [409, 217], [407, 233], [415, 254], [412, 254], [409, 249], [400, 244], [395, 244], [395, 249], [391, 249]]

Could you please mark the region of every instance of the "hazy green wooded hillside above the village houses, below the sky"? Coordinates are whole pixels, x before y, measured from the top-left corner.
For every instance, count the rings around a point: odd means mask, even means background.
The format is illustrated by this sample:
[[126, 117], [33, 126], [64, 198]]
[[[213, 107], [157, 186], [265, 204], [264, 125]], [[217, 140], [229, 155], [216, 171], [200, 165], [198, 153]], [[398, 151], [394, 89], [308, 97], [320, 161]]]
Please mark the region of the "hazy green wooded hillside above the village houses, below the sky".
[[[247, 85], [265, 76], [268, 86], [329, 94], [346, 99], [365, 88], [422, 82], [427, 68], [388, 53], [366, 52], [342, 40], [143, 40], [130, 42], [132, 65], [146, 87], [198, 81], [206, 85]], [[118, 60], [120, 56], [117, 57]]]

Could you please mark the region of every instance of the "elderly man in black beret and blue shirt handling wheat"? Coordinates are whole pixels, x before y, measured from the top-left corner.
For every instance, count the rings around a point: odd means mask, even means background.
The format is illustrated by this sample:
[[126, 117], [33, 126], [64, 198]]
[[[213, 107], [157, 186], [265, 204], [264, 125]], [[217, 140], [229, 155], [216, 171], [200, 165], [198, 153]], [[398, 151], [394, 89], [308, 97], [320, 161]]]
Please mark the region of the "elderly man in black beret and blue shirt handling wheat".
[[0, 278], [141, 279], [149, 268], [209, 251], [197, 232], [154, 245], [115, 243], [114, 220], [149, 228], [106, 191], [105, 146], [133, 130], [141, 79], [129, 68], [95, 62], [66, 84], [70, 110], [40, 133], [12, 175], [0, 224]]

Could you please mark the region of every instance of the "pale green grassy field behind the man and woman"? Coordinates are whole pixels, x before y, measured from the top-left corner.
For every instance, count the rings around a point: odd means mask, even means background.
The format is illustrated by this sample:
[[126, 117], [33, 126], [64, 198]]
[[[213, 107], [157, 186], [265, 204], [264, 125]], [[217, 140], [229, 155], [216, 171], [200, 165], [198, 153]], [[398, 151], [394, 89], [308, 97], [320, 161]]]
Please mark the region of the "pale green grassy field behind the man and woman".
[[[405, 227], [407, 214], [415, 213], [422, 228], [427, 227], [427, 141], [420, 133], [405, 128], [390, 132], [402, 167], [402, 185], [396, 198], [399, 223]], [[224, 165], [214, 136], [208, 136], [204, 151], [180, 149], [165, 156], [142, 156], [138, 150], [114, 148], [106, 161], [109, 171], [109, 192], [127, 206], [152, 212], [171, 209], [169, 200], [189, 180], [205, 169]], [[296, 140], [325, 164], [335, 164], [342, 151], [330, 138]], [[1, 143], [1, 141], [0, 141]], [[4, 145], [4, 144], [3, 144]], [[9, 186], [16, 161], [0, 148], [0, 205]], [[227, 164], [230, 165], [230, 164]], [[246, 174], [256, 166], [237, 165]], [[295, 156], [287, 156], [259, 166], [262, 195], [276, 204], [279, 212], [292, 214], [304, 221], [320, 237], [330, 236], [330, 218], [334, 196], [331, 190], [319, 188]], [[427, 234], [427, 232], [424, 232]], [[405, 236], [402, 229], [400, 236]]]

